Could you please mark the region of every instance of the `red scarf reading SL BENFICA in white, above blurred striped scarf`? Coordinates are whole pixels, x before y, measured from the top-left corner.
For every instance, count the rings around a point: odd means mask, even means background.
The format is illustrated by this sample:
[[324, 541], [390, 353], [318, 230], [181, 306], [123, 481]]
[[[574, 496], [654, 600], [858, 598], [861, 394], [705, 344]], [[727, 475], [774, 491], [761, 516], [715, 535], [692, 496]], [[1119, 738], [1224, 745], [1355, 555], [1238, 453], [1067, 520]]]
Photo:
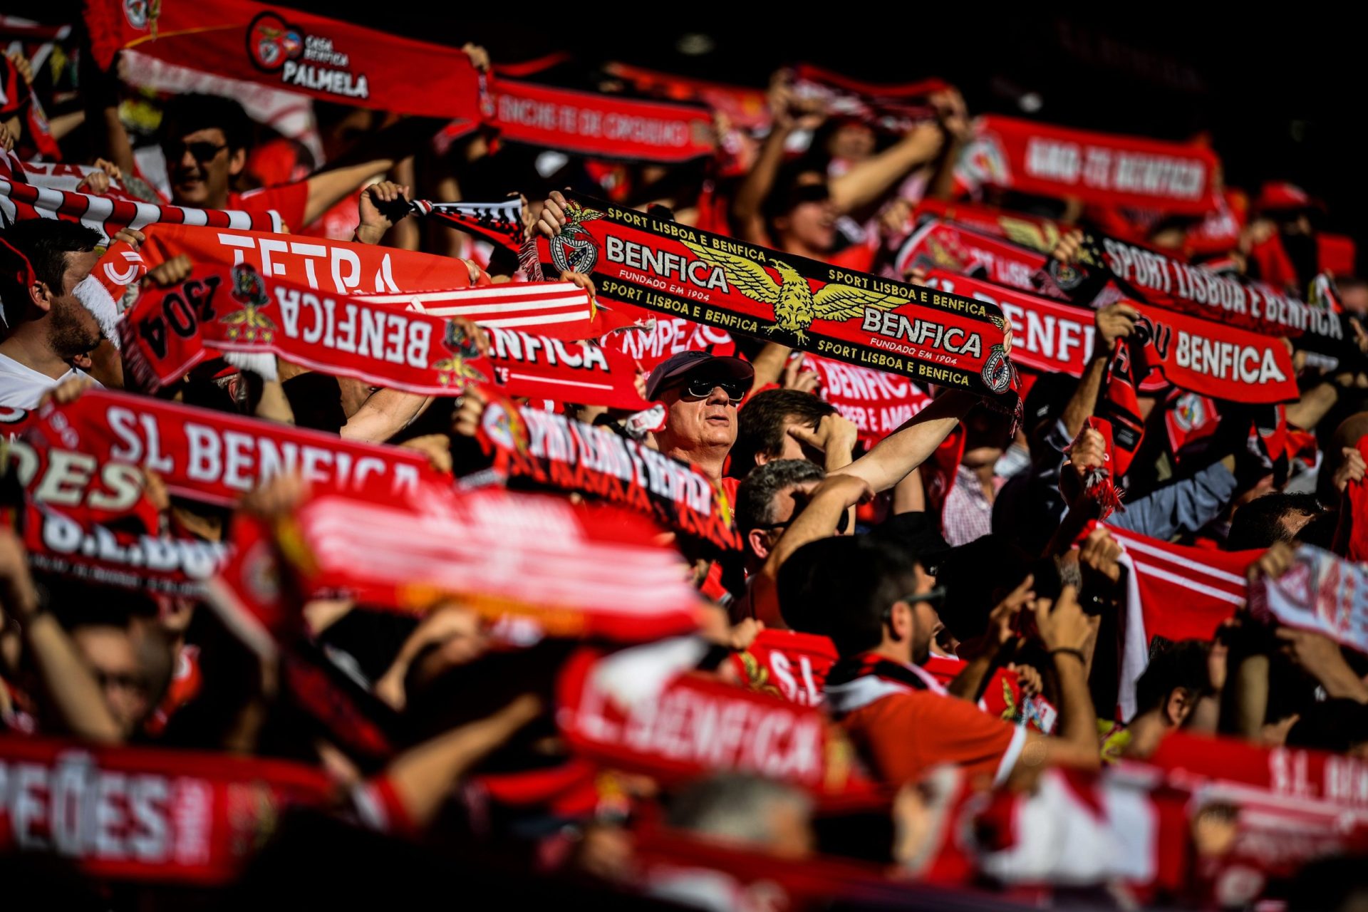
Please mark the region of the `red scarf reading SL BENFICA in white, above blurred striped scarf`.
[[297, 472], [313, 484], [379, 496], [402, 496], [416, 491], [420, 480], [436, 479], [416, 450], [356, 443], [149, 397], [92, 390], [52, 413], [62, 416], [71, 448], [94, 457], [100, 466], [96, 474], [60, 484], [79, 492], [83, 502], [119, 494], [119, 465], [155, 472], [172, 495], [223, 506], [280, 473]]

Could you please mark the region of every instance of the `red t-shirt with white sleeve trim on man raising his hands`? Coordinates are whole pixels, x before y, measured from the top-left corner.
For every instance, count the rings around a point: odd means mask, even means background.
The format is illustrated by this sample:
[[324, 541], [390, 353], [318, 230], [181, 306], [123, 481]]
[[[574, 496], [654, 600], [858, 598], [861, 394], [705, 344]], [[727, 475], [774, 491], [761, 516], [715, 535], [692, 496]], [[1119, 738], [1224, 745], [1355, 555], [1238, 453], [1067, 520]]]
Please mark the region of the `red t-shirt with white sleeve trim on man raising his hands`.
[[851, 741], [884, 782], [915, 782], [953, 763], [970, 781], [1007, 778], [1026, 744], [1026, 729], [995, 719], [967, 700], [929, 690], [893, 693], [841, 719]]

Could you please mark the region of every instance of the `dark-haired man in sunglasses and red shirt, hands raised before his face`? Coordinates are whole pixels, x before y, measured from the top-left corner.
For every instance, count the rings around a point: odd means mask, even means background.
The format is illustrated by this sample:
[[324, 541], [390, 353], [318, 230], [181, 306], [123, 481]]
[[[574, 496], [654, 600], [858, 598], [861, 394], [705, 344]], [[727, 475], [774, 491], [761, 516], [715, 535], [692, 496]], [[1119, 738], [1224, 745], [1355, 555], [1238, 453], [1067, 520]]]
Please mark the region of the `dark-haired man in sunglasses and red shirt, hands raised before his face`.
[[[789, 577], [798, 574], [810, 585], [830, 588], [826, 602], [833, 608], [840, 602], [840, 610], [821, 618], [841, 656], [826, 678], [826, 704], [884, 782], [914, 782], [943, 763], [995, 785], [1047, 766], [1100, 766], [1083, 651], [1093, 628], [1073, 587], [1051, 603], [1036, 599], [1026, 580], [1010, 596], [1014, 610], [1034, 615], [1059, 682], [1059, 734], [1042, 736], [951, 696], [919, 666], [930, 655], [945, 589], [906, 548], [867, 536], [815, 541], [800, 548], [791, 565], [784, 567], [781, 591], [788, 592]], [[837, 574], [839, 589], [832, 588]], [[1012, 634], [1004, 636], [1010, 641]]]

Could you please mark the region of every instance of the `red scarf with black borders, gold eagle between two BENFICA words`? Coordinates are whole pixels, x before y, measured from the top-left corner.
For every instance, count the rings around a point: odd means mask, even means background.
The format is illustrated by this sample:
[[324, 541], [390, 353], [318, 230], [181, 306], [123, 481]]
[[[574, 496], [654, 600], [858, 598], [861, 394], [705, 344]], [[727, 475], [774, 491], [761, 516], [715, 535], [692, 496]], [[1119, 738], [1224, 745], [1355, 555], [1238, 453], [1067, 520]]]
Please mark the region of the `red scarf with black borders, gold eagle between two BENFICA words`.
[[599, 295], [837, 361], [969, 390], [1014, 410], [1016, 372], [1001, 312], [981, 301], [848, 272], [570, 194], [554, 239], [524, 250], [592, 272]]

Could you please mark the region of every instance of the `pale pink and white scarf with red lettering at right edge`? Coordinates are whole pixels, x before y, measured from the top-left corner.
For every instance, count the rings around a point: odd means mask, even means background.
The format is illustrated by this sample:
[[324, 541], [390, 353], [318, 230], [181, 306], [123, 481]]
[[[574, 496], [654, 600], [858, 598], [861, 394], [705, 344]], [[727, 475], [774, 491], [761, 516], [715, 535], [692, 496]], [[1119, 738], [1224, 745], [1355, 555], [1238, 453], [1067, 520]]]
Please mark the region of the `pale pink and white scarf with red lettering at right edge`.
[[1311, 544], [1297, 546], [1293, 565], [1280, 577], [1260, 576], [1249, 584], [1249, 613], [1256, 619], [1323, 633], [1358, 652], [1368, 652], [1368, 570]]

